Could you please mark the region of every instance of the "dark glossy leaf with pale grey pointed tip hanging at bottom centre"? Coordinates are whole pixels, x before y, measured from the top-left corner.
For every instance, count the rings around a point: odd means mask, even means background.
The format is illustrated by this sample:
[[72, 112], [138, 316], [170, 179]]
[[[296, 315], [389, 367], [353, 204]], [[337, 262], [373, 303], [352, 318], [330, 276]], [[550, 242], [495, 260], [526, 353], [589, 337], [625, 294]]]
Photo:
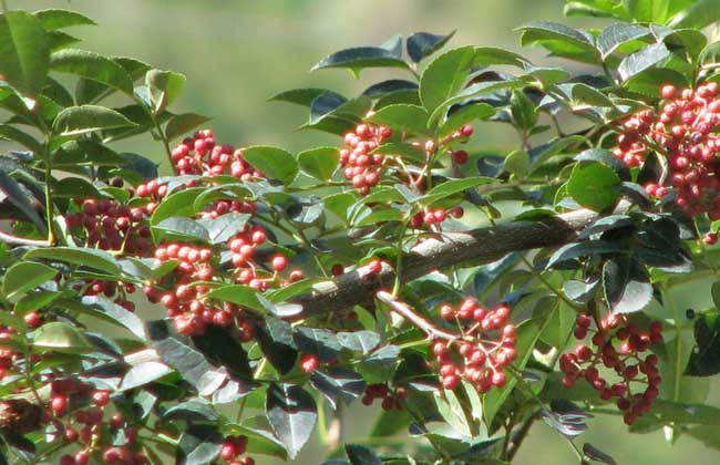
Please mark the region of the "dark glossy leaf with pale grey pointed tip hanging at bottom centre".
[[290, 459], [308, 442], [318, 418], [312, 396], [294, 384], [270, 384], [265, 404], [275, 435], [285, 444]]

